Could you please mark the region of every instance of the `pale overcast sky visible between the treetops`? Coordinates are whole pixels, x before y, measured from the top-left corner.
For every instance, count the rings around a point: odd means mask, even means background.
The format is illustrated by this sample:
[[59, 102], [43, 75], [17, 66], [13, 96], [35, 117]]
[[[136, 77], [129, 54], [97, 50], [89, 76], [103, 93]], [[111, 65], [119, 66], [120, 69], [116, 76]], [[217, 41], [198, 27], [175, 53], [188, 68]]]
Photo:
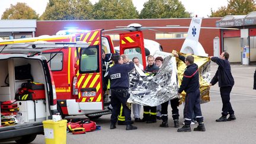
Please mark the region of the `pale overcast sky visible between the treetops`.
[[[98, 0], [90, 0], [92, 4], [98, 2]], [[132, 0], [133, 4], [140, 11], [143, 8], [143, 4], [148, 0]], [[180, 0], [184, 5], [185, 9], [188, 12], [192, 13], [194, 17], [197, 15], [198, 17], [207, 17], [210, 15], [211, 8], [213, 11], [216, 11], [218, 8], [222, 6], [228, 5], [228, 0]], [[1, 0], [0, 2], [0, 15], [2, 16], [5, 9], [9, 8], [12, 5], [17, 4], [17, 2], [25, 2], [28, 6], [33, 8], [37, 14], [41, 15], [46, 8], [46, 4], [48, 0]]]

